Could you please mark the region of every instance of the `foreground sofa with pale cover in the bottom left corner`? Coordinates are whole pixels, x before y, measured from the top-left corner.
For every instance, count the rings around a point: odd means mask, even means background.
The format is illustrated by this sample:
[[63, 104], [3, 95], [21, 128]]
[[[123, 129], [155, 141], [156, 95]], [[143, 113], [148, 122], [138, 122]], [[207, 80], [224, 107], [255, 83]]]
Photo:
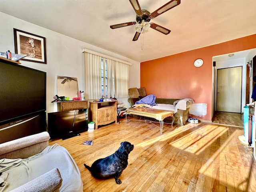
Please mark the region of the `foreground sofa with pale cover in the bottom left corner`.
[[78, 166], [48, 132], [0, 144], [0, 192], [82, 192]]

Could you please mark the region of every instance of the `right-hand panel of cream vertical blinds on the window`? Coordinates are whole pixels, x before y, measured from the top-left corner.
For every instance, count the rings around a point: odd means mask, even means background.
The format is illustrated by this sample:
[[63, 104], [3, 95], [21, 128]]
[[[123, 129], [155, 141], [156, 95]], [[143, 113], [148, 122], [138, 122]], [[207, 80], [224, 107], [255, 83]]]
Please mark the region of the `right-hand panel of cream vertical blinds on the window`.
[[115, 97], [116, 98], [128, 97], [130, 65], [124, 64], [122, 62], [114, 61], [113, 69], [114, 69]]

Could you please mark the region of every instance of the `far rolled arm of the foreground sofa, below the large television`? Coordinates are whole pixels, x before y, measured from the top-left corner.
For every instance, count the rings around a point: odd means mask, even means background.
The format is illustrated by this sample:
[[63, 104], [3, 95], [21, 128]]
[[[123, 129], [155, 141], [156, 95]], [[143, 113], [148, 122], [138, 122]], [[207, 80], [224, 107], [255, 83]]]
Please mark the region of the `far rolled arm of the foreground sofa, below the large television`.
[[48, 132], [26, 136], [0, 144], [0, 159], [28, 158], [42, 152], [49, 145]]

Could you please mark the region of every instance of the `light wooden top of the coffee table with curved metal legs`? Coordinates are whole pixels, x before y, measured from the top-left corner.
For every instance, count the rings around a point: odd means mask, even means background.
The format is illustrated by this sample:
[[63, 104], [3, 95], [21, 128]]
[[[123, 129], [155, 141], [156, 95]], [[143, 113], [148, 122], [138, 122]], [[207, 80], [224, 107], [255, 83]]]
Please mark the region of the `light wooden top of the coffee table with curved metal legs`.
[[164, 120], [166, 117], [173, 116], [174, 111], [162, 110], [162, 109], [152, 109], [152, 108], [130, 108], [126, 109], [128, 114], [140, 115], [145, 117], [151, 117], [156, 120]]

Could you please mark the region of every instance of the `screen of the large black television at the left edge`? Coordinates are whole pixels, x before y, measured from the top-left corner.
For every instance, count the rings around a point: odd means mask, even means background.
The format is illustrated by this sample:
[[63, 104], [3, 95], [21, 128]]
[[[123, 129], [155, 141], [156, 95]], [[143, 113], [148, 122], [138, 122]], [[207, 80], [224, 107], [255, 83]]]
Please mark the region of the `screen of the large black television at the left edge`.
[[0, 125], [46, 110], [46, 72], [0, 61]]

